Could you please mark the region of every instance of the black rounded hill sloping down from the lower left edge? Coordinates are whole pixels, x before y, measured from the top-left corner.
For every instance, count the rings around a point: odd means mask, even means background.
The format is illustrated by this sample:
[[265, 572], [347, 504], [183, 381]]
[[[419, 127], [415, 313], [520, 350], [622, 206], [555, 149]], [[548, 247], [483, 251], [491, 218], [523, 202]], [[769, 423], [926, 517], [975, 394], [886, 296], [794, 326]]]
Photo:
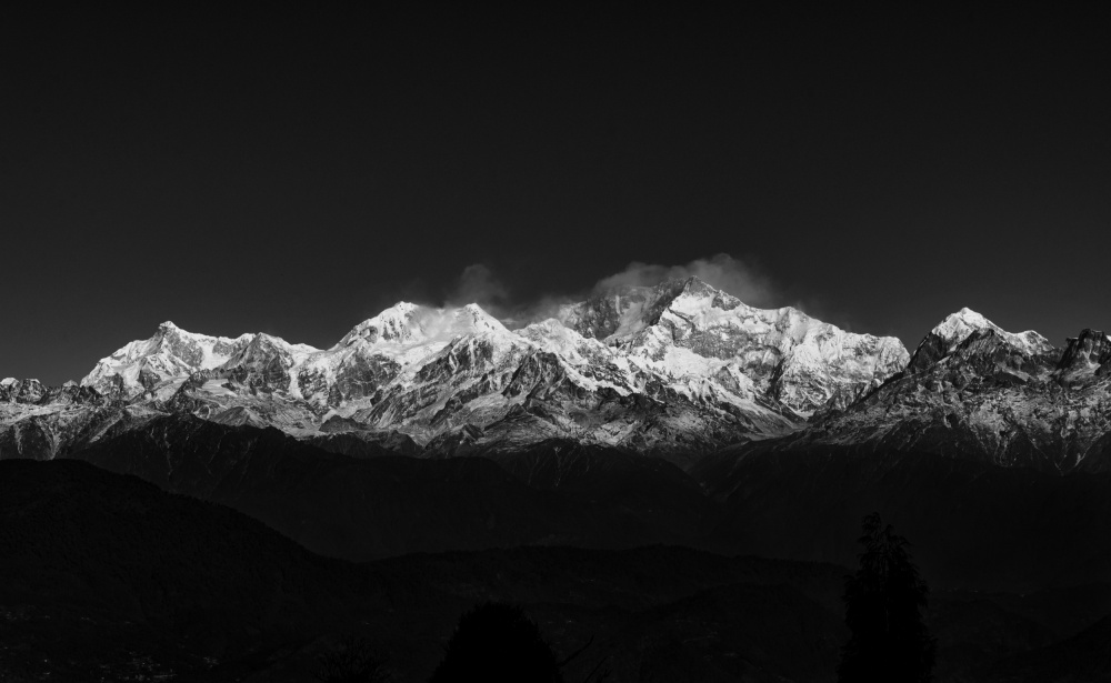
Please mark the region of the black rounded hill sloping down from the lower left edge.
[[51, 680], [88, 681], [89, 661], [122, 666], [136, 652], [203, 667], [381, 603], [368, 572], [228, 508], [82, 462], [0, 462], [9, 669], [51, 661]]

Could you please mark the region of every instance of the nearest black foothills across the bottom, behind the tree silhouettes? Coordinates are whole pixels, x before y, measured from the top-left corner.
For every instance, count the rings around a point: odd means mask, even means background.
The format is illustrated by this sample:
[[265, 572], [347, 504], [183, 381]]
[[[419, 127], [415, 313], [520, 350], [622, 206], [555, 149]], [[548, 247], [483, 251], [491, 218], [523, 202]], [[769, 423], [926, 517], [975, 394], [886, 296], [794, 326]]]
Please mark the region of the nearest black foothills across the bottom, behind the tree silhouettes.
[[[423, 681], [460, 614], [487, 600], [522, 605], [561, 656], [590, 643], [568, 681], [599, 664], [609, 681], [833, 681], [848, 572], [673, 545], [357, 564], [83, 462], [0, 462], [6, 682], [312, 681], [318, 657], [352, 636], [397, 680]], [[1108, 680], [1109, 614], [1111, 583], [935, 586], [937, 680]]]

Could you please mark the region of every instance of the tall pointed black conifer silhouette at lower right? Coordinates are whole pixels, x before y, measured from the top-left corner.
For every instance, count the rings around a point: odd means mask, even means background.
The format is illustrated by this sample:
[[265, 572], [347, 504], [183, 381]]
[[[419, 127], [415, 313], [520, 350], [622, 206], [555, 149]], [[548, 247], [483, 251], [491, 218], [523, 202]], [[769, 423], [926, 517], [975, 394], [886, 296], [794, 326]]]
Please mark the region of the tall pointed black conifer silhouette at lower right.
[[844, 621], [851, 635], [841, 649], [838, 681], [924, 683], [937, 649], [922, 621], [929, 586], [911, 561], [907, 539], [864, 518], [860, 569], [844, 581]]

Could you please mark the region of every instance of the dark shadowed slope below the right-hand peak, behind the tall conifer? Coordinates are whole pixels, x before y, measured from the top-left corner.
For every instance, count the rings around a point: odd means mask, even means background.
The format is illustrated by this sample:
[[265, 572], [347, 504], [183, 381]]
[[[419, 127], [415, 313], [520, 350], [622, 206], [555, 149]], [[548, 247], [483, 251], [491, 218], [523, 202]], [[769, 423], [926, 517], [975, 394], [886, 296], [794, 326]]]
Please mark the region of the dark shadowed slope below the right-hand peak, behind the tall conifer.
[[947, 587], [1029, 592], [1111, 576], [1111, 474], [1051, 474], [933, 453], [747, 444], [690, 474], [722, 505], [718, 548], [850, 564], [879, 511]]

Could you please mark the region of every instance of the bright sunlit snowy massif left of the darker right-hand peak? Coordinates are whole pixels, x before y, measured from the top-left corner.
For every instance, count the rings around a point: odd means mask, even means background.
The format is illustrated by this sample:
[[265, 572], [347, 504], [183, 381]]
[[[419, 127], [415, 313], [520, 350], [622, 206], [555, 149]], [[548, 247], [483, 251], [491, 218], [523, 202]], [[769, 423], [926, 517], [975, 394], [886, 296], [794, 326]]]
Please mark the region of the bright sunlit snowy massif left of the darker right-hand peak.
[[50, 394], [12, 381], [0, 400], [83, 410], [116, 402], [300, 438], [341, 418], [354, 431], [407, 434], [436, 455], [559, 438], [685, 462], [790, 434], [907, 358], [895, 339], [844, 332], [791, 308], [753, 309], [691, 278], [622, 288], [517, 331], [474, 304], [399, 303], [327, 350], [163, 323], [100, 361], [80, 386]]

